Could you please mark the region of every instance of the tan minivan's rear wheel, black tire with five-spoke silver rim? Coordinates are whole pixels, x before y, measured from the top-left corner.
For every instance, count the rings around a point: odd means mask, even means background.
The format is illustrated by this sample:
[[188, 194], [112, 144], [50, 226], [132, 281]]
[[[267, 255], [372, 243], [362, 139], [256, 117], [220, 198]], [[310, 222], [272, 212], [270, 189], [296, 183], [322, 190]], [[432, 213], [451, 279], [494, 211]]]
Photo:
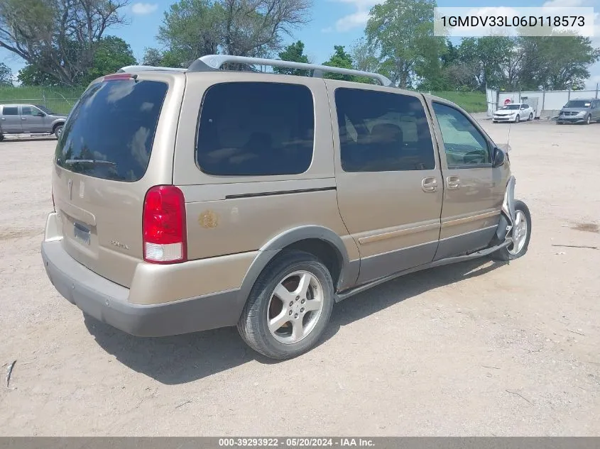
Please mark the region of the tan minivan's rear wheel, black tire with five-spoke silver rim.
[[327, 328], [334, 286], [310, 253], [281, 253], [256, 280], [237, 329], [257, 353], [285, 360], [307, 352]]

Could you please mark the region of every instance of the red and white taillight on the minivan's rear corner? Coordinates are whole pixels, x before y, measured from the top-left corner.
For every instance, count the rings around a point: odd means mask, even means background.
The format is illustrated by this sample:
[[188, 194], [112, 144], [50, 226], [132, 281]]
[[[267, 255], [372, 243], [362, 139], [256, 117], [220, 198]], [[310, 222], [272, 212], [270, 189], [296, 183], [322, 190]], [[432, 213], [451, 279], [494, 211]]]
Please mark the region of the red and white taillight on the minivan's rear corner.
[[152, 263], [187, 260], [185, 199], [175, 186], [155, 186], [143, 201], [143, 259]]

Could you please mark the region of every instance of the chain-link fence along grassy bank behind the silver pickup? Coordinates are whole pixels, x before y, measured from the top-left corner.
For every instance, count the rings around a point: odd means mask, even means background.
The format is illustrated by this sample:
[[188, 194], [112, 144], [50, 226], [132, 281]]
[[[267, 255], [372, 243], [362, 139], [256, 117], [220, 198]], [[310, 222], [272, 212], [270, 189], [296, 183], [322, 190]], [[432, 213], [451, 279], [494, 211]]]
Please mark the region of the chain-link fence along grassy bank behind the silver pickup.
[[0, 104], [39, 104], [56, 113], [67, 114], [85, 87], [0, 87]]

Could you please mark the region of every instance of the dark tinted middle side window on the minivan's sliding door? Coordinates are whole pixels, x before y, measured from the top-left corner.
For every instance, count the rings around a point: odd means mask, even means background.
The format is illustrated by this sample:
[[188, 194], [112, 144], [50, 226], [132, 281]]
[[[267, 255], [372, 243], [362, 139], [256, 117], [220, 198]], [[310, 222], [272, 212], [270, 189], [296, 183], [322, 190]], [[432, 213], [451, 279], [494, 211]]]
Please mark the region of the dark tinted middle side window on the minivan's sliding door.
[[435, 168], [427, 116], [415, 96], [339, 88], [335, 103], [344, 172]]

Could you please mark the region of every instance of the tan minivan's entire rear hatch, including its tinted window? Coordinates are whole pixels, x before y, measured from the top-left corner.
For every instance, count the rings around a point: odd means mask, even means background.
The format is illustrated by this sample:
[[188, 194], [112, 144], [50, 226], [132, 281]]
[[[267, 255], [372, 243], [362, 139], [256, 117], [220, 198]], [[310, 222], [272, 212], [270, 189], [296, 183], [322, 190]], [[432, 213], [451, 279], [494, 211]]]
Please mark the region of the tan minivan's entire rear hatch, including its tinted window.
[[146, 192], [173, 179], [177, 84], [185, 83], [179, 77], [119, 74], [94, 82], [56, 147], [53, 196], [62, 245], [82, 265], [125, 287], [143, 260]]

